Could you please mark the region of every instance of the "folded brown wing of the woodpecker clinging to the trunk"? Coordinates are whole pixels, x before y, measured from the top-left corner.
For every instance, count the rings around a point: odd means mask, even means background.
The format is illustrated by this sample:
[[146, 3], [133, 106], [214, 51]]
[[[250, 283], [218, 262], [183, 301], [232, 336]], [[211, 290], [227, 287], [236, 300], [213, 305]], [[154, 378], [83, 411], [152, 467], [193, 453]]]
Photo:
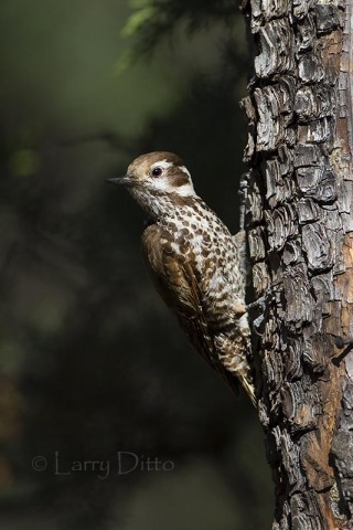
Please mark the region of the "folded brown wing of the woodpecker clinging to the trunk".
[[194, 268], [182, 255], [173, 252], [168, 234], [157, 224], [145, 230], [142, 246], [157, 290], [176, 314], [181, 327], [201, 357], [235, 388], [235, 378], [220, 362], [213, 333], [205, 318], [201, 282], [197, 280]]

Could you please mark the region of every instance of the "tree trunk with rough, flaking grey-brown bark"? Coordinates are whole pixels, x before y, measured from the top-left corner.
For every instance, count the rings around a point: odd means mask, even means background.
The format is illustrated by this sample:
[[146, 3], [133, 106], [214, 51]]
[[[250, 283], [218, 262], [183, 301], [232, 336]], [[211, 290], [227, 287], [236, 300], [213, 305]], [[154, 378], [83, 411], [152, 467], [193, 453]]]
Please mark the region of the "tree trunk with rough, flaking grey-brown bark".
[[252, 0], [245, 226], [274, 529], [353, 528], [353, 8]]

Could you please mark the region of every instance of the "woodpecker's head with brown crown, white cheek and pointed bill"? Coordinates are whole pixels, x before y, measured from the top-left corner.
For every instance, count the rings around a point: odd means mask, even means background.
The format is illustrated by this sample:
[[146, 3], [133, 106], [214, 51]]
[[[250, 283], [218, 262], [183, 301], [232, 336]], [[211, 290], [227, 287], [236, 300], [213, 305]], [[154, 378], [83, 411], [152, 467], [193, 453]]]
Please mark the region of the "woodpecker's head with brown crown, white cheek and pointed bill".
[[172, 205], [196, 197], [190, 172], [172, 152], [156, 151], [141, 155], [120, 178], [108, 182], [128, 188], [140, 205], [153, 216], [167, 204]]

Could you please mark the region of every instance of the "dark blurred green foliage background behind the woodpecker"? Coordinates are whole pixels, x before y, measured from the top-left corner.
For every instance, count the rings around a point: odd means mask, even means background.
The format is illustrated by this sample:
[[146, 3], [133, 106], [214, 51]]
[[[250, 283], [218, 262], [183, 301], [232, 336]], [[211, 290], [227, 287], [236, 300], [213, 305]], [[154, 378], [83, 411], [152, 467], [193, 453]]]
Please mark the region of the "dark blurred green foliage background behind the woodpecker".
[[[142, 213], [104, 182], [141, 152], [176, 151], [237, 229], [242, 20], [231, 2], [135, 7], [0, 4], [0, 524], [10, 530], [270, 520], [256, 413], [191, 350], [145, 271]], [[118, 38], [124, 26], [132, 43]], [[169, 32], [178, 46], [160, 41]], [[117, 75], [133, 42], [140, 61]], [[120, 476], [119, 451], [175, 467]], [[62, 470], [97, 459], [110, 474], [60, 475], [55, 453]]]

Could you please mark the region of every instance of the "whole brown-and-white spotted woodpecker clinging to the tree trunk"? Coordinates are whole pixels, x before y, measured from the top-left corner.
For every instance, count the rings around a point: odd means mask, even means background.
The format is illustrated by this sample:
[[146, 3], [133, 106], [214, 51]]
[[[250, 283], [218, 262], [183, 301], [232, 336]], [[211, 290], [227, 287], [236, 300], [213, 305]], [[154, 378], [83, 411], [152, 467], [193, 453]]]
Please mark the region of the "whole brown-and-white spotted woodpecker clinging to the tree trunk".
[[[148, 215], [142, 247], [154, 286], [203, 359], [256, 405], [242, 245], [194, 191], [183, 161], [141, 155], [121, 178]], [[237, 237], [237, 239], [236, 239]]]

